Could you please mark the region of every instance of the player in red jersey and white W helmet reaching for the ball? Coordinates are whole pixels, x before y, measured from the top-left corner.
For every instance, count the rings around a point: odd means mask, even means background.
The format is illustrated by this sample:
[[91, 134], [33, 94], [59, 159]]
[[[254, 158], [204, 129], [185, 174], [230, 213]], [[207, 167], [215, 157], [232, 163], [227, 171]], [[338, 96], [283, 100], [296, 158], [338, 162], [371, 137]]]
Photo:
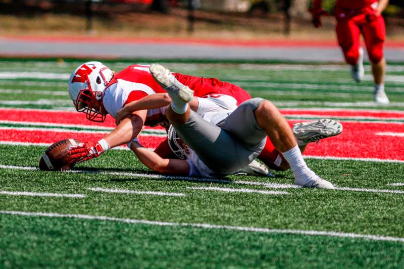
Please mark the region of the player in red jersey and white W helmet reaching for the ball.
[[[179, 83], [191, 86], [197, 97], [228, 96], [231, 97], [228, 99], [234, 107], [251, 99], [251, 96], [242, 88], [215, 78], [199, 78], [179, 73], [173, 73], [173, 75]], [[85, 142], [72, 148], [70, 153], [75, 158], [83, 157], [81, 161], [88, 160], [99, 156], [109, 148], [132, 141], [143, 125], [164, 125], [166, 123], [164, 105], [167, 104], [164, 96], [168, 96], [163, 94], [160, 95], [163, 99], [149, 98], [158, 97], [156, 93], [166, 93], [166, 91], [151, 76], [148, 66], [132, 65], [117, 74], [99, 62], [88, 62], [79, 66], [69, 79], [69, 94], [77, 111], [85, 113], [87, 119], [97, 122], [103, 122], [106, 115], [110, 114], [117, 119], [117, 128], [98, 142]], [[145, 96], [148, 98], [144, 98]], [[124, 117], [118, 115], [125, 104], [140, 99], [148, 100], [143, 102], [141, 109], [138, 107], [136, 111]], [[197, 111], [199, 102], [196, 100], [189, 105]], [[171, 152], [167, 140], [156, 148], [156, 152], [164, 157]], [[289, 168], [269, 138], [259, 159], [275, 170]]]

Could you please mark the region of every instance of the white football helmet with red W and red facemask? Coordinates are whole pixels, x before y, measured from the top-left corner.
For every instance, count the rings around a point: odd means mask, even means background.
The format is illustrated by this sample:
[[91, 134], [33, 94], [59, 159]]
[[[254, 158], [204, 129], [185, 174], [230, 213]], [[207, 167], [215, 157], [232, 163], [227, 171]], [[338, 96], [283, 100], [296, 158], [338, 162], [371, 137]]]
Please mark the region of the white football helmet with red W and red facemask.
[[104, 122], [107, 111], [103, 105], [104, 90], [114, 73], [100, 62], [80, 65], [69, 79], [69, 95], [76, 110], [93, 122]]

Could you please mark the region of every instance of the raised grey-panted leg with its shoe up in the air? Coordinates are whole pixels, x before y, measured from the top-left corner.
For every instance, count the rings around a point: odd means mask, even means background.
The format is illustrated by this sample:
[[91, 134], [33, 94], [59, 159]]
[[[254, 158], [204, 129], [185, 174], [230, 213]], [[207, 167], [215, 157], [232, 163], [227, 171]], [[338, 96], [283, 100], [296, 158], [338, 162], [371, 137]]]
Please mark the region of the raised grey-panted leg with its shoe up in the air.
[[233, 174], [257, 157], [261, 149], [259, 151], [244, 149], [241, 143], [220, 127], [190, 111], [189, 106], [184, 108], [184, 104], [191, 99], [190, 90], [175, 78], [172, 80], [173, 76], [168, 69], [152, 65], [150, 71], [171, 97], [172, 102], [166, 109], [166, 116], [178, 136], [218, 176]]

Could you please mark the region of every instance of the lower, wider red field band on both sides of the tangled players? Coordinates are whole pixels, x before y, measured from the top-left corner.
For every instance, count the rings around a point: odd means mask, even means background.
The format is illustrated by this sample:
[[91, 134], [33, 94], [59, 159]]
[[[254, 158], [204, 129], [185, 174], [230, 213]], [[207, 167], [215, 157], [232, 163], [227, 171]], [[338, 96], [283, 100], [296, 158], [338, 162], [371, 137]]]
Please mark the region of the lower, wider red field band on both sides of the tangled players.
[[[292, 123], [292, 122], [291, 122]], [[312, 143], [305, 154], [312, 156], [379, 158], [404, 160], [404, 137], [379, 136], [379, 132], [404, 133], [403, 125], [378, 123], [343, 123], [342, 134]], [[0, 130], [0, 140], [15, 142], [54, 143], [66, 138], [81, 141], [97, 141], [103, 134], [80, 134], [49, 131]], [[140, 142], [148, 148], [155, 148], [164, 137], [140, 136]]]

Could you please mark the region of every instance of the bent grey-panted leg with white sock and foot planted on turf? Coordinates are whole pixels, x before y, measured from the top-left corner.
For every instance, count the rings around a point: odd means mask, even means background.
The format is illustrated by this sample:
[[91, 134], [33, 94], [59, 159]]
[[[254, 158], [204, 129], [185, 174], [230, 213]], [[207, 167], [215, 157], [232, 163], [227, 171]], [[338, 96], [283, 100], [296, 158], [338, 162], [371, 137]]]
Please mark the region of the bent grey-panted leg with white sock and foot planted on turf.
[[218, 126], [242, 141], [245, 148], [259, 146], [263, 149], [269, 136], [275, 148], [282, 152], [289, 163], [295, 184], [333, 188], [331, 183], [321, 179], [307, 167], [289, 124], [270, 101], [262, 98], [247, 100]]

